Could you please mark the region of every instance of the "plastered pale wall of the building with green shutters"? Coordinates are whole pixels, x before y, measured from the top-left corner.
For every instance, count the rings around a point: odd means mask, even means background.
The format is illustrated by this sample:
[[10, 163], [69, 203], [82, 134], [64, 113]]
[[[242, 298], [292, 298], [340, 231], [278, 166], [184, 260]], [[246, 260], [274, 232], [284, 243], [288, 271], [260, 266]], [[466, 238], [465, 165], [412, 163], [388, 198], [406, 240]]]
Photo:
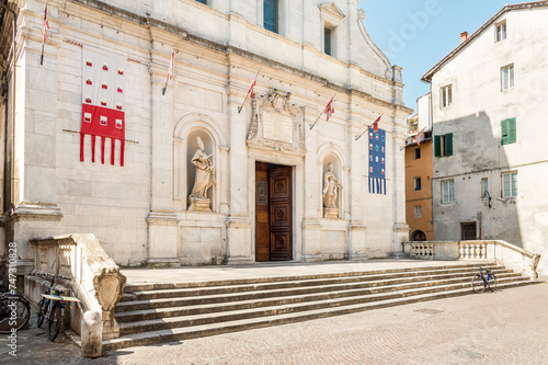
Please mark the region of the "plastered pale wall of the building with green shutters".
[[[505, 240], [540, 253], [544, 274], [548, 272], [546, 19], [546, 2], [506, 5], [423, 77], [432, 83], [434, 136], [453, 134], [453, 156], [434, 158], [435, 240], [464, 239], [463, 225], [476, 225], [475, 239]], [[506, 89], [503, 69], [509, 66], [513, 85]], [[447, 85], [452, 101], [444, 106]], [[502, 123], [511, 118], [515, 118], [515, 134], [511, 133], [515, 141], [506, 142]], [[515, 194], [509, 194], [512, 185], [504, 189], [509, 173], [516, 173]], [[446, 181], [454, 183], [454, 202], [444, 203]]]

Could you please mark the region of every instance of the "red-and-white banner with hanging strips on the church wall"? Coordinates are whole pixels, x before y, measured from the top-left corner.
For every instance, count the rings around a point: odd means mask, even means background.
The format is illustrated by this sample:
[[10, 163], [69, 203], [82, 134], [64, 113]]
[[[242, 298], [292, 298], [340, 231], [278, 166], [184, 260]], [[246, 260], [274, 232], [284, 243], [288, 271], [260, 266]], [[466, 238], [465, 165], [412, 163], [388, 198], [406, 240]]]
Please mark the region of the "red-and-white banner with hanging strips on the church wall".
[[95, 138], [101, 137], [101, 162], [104, 163], [105, 139], [110, 138], [111, 164], [114, 164], [116, 140], [119, 140], [119, 164], [124, 166], [125, 62], [123, 57], [83, 48], [80, 161], [84, 160], [85, 135], [90, 135], [92, 162], [95, 162]]

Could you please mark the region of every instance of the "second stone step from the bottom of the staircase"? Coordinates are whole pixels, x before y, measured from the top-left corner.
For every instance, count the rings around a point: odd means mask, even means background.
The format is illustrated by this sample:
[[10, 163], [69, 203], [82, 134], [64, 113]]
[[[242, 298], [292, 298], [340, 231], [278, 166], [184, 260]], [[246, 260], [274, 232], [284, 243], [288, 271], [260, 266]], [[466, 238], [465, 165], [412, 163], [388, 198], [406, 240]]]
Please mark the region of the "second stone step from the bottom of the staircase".
[[[501, 284], [506, 284], [511, 282], [522, 281], [522, 277], [507, 277], [500, 278]], [[129, 334], [144, 331], [158, 331], [163, 329], [171, 329], [176, 327], [191, 327], [201, 326], [215, 322], [224, 322], [235, 319], [248, 319], [254, 317], [267, 317], [275, 316], [286, 312], [297, 312], [297, 311], [308, 311], [321, 308], [330, 307], [342, 307], [355, 304], [363, 304], [368, 301], [377, 301], [389, 298], [398, 298], [404, 296], [421, 295], [425, 293], [436, 293], [445, 290], [454, 290], [470, 287], [470, 281], [466, 283], [450, 283], [444, 282], [442, 285], [436, 286], [400, 286], [400, 287], [388, 287], [375, 288], [369, 290], [359, 290], [355, 293], [350, 293], [350, 296], [332, 297], [332, 296], [320, 296], [316, 300], [309, 300], [306, 303], [292, 303], [283, 304], [271, 307], [263, 308], [243, 308], [238, 310], [227, 310], [215, 313], [199, 313], [193, 316], [180, 316], [180, 317], [167, 317], [160, 319], [146, 319], [141, 321], [134, 322], [121, 322], [119, 332], [121, 334]]]

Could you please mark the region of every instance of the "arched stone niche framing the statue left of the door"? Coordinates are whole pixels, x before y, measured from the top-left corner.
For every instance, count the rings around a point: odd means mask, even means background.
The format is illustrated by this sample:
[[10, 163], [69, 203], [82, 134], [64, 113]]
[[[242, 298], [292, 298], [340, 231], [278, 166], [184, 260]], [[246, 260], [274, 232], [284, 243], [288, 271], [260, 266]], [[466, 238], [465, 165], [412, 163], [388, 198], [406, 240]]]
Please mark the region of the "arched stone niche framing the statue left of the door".
[[206, 115], [191, 114], [176, 124], [173, 133], [173, 201], [181, 210], [189, 208], [189, 195], [195, 183], [196, 168], [192, 158], [198, 149], [197, 137], [204, 144], [204, 152], [213, 155], [212, 162], [217, 183], [207, 191], [212, 212], [219, 212], [222, 140], [215, 122]]

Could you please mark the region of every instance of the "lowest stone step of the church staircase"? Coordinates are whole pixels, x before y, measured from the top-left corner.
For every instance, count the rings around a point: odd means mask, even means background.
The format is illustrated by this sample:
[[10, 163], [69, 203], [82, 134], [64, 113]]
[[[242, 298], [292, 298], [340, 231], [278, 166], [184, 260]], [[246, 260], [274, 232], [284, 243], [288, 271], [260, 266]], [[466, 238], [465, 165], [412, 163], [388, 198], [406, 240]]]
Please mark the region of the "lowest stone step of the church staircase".
[[[499, 283], [499, 289], [520, 285], [537, 284], [538, 282], [522, 278], [513, 282]], [[347, 315], [359, 311], [400, 306], [411, 303], [434, 300], [454, 296], [473, 294], [470, 285], [459, 288], [452, 288], [449, 285], [446, 290], [423, 294], [410, 294], [412, 292], [402, 292], [397, 298], [383, 298], [376, 301], [353, 304], [347, 306], [334, 306], [328, 308], [312, 309], [305, 312], [285, 312], [269, 317], [256, 317], [236, 320], [235, 318], [220, 323], [207, 323], [193, 327], [179, 327], [173, 329], [162, 329], [158, 331], [147, 331], [122, 335], [118, 339], [103, 341], [103, 350], [124, 349], [129, 346], [147, 345], [153, 343], [189, 340], [221, 333], [251, 330], [270, 326], [279, 326], [295, 323], [299, 321], [327, 318], [332, 316]], [[488, 294], [483, 294], [488, 295]]]

